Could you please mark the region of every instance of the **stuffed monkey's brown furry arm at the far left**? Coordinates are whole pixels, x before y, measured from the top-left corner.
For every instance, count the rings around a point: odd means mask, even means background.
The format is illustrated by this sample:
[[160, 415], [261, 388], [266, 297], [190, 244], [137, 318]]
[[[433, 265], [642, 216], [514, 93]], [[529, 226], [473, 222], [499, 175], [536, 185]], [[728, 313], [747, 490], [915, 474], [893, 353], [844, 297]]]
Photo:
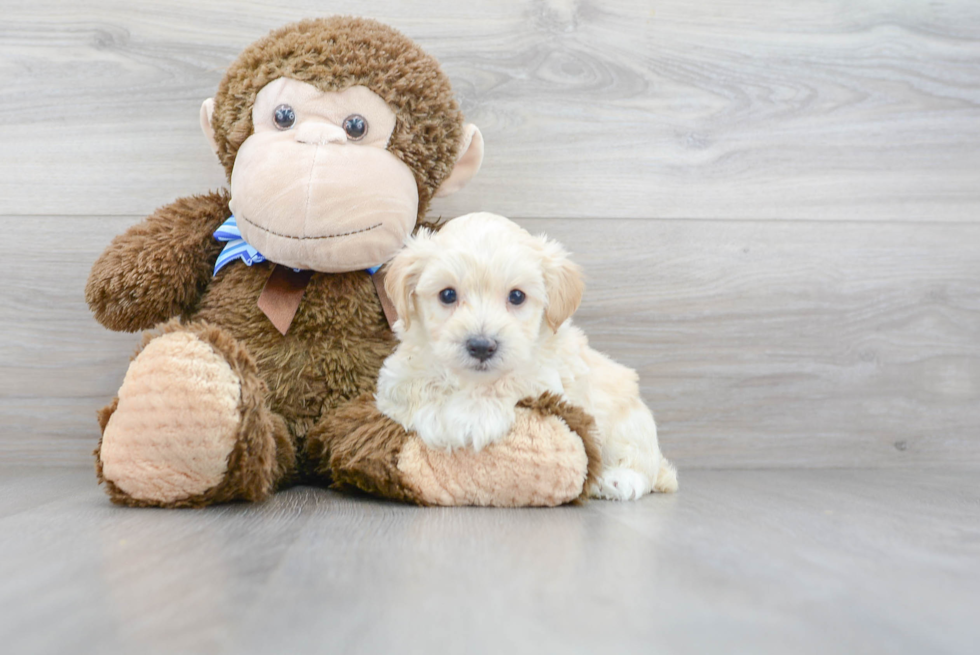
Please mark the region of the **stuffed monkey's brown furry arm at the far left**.
[[193, 307], [224, 247], [212, 234], [228, 216], [226, 191], [189, 196], [113, 239], [85, 286], [96, 320], [135, 332]]

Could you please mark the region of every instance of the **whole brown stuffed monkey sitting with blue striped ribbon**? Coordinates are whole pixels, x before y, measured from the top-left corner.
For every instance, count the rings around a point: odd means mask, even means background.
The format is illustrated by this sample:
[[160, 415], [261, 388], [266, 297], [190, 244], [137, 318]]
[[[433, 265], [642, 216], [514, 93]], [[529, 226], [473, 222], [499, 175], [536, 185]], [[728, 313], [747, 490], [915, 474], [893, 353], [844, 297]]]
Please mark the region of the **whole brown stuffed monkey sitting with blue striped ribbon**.
[[375, 408], [395, 345], [378, 269], [483, 157], [433, 58], [371, 20], [288, 25], [232, 63], [201, 125], [230, 190], [158, 209], [86, 286], [105, 327], [152, 329], [99, 413], [114, 502], [202, 507], [293, 484], [439, 505], [584, 494], [591, 418], [554, 397], [523, 401], [510, 437], [479, 452], [429, 450]]

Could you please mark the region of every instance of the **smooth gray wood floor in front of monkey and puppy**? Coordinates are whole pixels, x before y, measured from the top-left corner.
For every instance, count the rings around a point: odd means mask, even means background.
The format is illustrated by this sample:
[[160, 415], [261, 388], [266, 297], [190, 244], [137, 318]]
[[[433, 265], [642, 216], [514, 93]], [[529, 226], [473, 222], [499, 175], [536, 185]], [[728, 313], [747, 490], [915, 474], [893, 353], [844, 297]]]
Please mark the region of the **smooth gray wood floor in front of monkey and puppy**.
[[676, 496], [112, 506], [0, 469], [6, 653], [976, 653], [977, 473], [690, 471]]

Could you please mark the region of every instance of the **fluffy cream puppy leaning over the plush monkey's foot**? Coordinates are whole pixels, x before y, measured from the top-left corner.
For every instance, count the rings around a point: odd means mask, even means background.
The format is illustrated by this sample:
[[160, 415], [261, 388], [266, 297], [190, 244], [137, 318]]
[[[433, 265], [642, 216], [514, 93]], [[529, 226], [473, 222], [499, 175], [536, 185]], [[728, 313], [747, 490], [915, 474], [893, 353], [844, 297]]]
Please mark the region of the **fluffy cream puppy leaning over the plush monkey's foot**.
[[584, 284], [558, 243], [468, 214], [410, 238], [385, 288], [401, 343], [381, 368], [378, 409], [426, 444], [479, 450], [507, 436], [518, 401], [552, 392], [596, 420], [603, 471], [591, 495], [677, 489], [636, 372], [568, 320]]

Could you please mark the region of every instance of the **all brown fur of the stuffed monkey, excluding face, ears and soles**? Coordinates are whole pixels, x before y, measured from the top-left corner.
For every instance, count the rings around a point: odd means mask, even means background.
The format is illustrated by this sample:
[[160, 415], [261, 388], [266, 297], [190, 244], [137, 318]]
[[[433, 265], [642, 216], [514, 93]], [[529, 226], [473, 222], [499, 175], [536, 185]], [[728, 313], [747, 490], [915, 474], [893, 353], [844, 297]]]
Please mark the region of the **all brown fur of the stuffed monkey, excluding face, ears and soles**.
[[[462, 116], [435, 60], [374, 21], [304, 21], [273, 32], [232, 64], [215, 98], [213, 127], [229, 177], [252, 131], [256, 93], [283, 75], [322, 90], [361, 84], [387, 100], [397, 116], [389, 150], [412, 169], [424, 216], [452, 170], [462, 133]], [[371, 400], [395, 340], [370, 276], [315, 273], [281, 335], [257, 305], [272, 264], [236, 262], [212, 273], [223, 247], [212, 234], [230, 215], [228, 202], [222, 191], [162, 207], [114, 239], [92, 268], [86, 299], [99, 322], [136, 331], [169, 321], [160, 332], [192, 332], [241, 381], [239, 434], [220, 484], [169, 503], [129, 497], [104, 478], [100, 441], [96, 467], [110, 497], [134, 506], [201, 507], [260, 500], [276, 487], [310, 479], [424, 503], [397, 469], [408, 436], [379, 422]], [[582, 437], [591, 480], [586, 417], [553, 401], [533, 406], [563, 417]], [[103, 433], [114, 411], [115, 403], [100, 412]]]

